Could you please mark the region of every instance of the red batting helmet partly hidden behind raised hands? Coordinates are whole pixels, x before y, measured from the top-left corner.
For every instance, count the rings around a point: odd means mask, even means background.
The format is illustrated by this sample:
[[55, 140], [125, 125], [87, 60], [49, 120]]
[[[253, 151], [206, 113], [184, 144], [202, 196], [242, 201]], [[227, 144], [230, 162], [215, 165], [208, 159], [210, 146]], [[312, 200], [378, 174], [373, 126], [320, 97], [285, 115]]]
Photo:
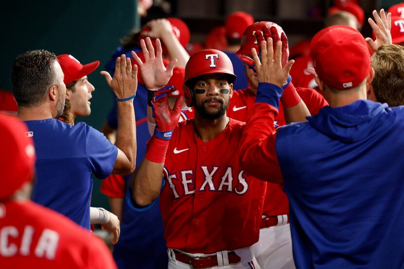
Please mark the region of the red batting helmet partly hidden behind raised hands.
[[241, 46], [240, 49], [237, 50], [237, 54], [251, 54], [251, 49], [255, 48], [257, 50], [257, 53], [259, 54], [258, 51], [258, 44], [257, 44], [257, 39], [255, 36], [255, 32], [257, 30], [262, 31], [262, 27], [265, 25], [268, 26], [268, 28], [271, 28], [272, 26], [276, 27], [276, 30], [278, 31], [279, 37], [280, 34], [285, 33], [283, 32], [282, 27], [277, 25], [274, 22], [270, 21], [258, 21], [245, 29], [243, 36], [241, 37]]

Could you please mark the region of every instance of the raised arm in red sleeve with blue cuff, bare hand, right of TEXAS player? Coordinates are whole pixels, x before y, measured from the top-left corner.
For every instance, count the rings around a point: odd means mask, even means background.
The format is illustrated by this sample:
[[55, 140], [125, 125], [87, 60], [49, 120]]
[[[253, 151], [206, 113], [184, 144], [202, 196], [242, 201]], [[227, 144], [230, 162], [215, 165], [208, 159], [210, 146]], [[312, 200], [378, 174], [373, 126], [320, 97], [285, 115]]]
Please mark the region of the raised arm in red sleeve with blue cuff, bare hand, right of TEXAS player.
[[[244, 128], [240, 149], [240, 161], [244, 171], [259, 179], [278, 183], [282, 182], [282, 176], [275, 151], [274, 118], [283, 93], [281, 86], [294, 63], [293, 60], [288, 61], [282, 68], [281, 45], [280, 41], [276, 43], [274, 57], [272, 38], [261, 42], [261, 60], [257, 52], [254, 49], [252, 51], [259, 84], [257, 100]], [[268, 171], [271, 171], [271, 177], [268, 177]]]

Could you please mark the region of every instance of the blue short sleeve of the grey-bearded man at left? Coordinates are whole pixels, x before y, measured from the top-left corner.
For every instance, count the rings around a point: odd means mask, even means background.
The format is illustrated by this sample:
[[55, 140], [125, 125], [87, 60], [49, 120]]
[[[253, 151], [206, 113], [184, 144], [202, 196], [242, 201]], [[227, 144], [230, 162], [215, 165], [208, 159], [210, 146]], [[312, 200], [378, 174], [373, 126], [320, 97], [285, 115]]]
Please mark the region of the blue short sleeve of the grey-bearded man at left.
[[99, 179], [108, 177], [118, 156], [116, 148], [104, 134], [86, 126], [86, 156], [92, 173]]

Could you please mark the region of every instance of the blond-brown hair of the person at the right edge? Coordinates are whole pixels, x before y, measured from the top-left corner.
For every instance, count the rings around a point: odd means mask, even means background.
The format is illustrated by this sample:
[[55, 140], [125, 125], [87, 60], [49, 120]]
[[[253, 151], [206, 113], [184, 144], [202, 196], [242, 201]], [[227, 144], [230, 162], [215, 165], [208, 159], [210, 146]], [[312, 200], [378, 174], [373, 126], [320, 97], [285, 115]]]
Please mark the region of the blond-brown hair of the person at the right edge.
[[404, 105], [404, 48], [382, 45], [373, 53], [371, 67], [375, 71], [372, 86], [377, 101], [389, 106]]

